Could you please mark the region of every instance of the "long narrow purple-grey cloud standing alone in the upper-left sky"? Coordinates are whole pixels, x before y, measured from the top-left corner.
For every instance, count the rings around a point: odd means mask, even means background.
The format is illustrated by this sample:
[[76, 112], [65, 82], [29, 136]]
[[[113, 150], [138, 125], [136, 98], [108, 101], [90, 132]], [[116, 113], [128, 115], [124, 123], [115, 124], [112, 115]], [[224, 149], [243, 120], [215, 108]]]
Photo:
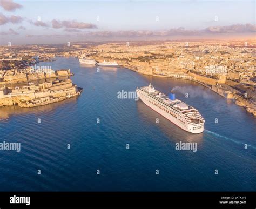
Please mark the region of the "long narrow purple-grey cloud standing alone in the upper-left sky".
[[52, 19], [52, 28], [73, 28], [73, 29], [93, 29], [96, 25], [91, 23], [77, 22], [77, 21], [57, 21]]

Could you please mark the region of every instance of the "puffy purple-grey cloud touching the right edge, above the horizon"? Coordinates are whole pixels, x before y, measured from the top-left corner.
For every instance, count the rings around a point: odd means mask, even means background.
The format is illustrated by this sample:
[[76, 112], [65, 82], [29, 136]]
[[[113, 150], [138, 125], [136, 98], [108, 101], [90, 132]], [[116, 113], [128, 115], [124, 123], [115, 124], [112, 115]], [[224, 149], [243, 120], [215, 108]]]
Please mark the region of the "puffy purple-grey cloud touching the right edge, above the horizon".
[[252, 24], [235, 24], [229, 26], [210, 26], [205, 29], [210, 33], [242, 33], [242, 32], [256, 32], [256, 25]]

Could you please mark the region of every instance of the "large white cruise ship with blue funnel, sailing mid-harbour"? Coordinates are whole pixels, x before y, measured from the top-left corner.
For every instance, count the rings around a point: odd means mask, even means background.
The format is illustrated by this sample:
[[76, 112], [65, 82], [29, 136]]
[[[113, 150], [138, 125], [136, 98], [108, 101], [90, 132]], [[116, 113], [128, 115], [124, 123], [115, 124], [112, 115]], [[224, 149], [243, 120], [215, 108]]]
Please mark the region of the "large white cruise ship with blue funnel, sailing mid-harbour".
[[181, 129], [191, 133], [201, 133], [204, 131], [205, 120], [198, 110], [176, 99], [174, 93], [166, 96], [155, 90], [151, 84], [140, 87], [136, 92], [142, 102]]

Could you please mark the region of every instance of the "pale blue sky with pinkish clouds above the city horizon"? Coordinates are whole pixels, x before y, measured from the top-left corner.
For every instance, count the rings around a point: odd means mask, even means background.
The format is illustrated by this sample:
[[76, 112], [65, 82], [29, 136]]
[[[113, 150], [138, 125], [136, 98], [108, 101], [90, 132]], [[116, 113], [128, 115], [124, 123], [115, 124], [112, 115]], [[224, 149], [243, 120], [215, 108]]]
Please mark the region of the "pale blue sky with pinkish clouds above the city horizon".
[[1, 0], [0, 44], [255, 37], [255, 1]]

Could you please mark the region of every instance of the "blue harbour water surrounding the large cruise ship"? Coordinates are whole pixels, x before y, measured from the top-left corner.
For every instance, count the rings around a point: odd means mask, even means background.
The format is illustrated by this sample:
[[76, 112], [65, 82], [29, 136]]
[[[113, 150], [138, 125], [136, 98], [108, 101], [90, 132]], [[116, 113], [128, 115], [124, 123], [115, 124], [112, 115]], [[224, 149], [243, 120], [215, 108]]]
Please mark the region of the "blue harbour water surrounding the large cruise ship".
[[[71, 69], [83, 93], [0, 109], [0, 143], [21, 143], [21, 152], [0, 150], [0, 191], [256, 190], [256, 118], [232, 100], [189, 80], [97, 72], [76, 58], [39, 65]], [[176, 87], [176, 97], [205, 118], [205, 131], [188, 133], [140, 100], [117, 98], [149, 83], [166, 94]], [[197, 151], [176, 150], [180, 141], [197, 143]]]

